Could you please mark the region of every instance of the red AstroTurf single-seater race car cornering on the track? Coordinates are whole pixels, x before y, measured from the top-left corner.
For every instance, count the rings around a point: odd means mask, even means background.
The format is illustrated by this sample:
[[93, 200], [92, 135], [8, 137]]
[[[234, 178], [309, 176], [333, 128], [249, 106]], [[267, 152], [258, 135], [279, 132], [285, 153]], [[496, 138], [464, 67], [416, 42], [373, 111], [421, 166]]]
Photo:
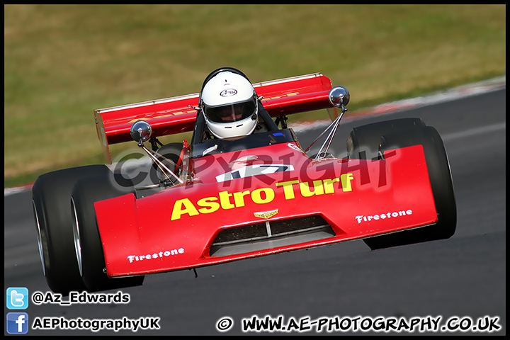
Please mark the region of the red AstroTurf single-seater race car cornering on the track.
[[[221, 117], [219, 106], [203, 97], [220, 72], [246, 77], [225, 67], [205, 79], [199, 94], [94, 112], [108, 161], [108, 145], [135, 140], [151, 158], [157, 175], [151, 183], [140, 186], [106, 165], [38, 178], [33, 208], [53, 291], [141, 285], [150, 273], [350, 239], [380, 249], [453, 235], [453, 183], [434, 128], [419, 118], [363, 125], [347, 137], [348, 157], [336, 158], [328, 148], [349, 93], [322, 74], [310, 74], [253, 84], [246, 120], [252, 131], [217, 136], [208, 122], [213, 109]], [[228, 85], [218, 101], [243, 91]], [[310, 157], [286, 116], [320, 109], [327, 109], [332, 123]], [[193, 131], [190, 142], [157, 140], [187, 131]]]

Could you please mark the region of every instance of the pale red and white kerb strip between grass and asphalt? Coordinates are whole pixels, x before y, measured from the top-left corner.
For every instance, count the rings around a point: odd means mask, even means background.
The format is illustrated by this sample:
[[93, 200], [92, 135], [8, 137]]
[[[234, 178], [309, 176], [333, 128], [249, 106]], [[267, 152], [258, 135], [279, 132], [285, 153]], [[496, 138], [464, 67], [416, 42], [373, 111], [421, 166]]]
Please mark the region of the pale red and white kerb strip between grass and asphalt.
[[[434, 92], [427, 96], [420, 96], [416, 98], [404, 99], [402, 101], [392, 101], [390, 103], [380, 104], [373, 108], [362, 109], [356, 111], [356, 115], [344, 118], [344, 121], [359, 120], [373, 115], [388, 115], [397, 113], [399, 111], [408, 110], [409, 108], [419, 108], [422, 106], [429, 106], [438, 103], [445, 103], [448, 101], [455, 101], [460, 98], [469, 96], [477, 96], [479, 94], [487, 94], [492, 91], [497, 91], [506, 88], [506, 76], [480, 81], [473, 84], [458, 86], [453, 89], [445, 91]], [[314, 120], [313, 122], [297, 122], [293, 123], [292, 128], [295, 131], [302, 132], [316, 128], [326, 128], [331, 124], [331, 120]], [[498, 130], [501, 127], [497, 127]], [[506, 128], [506, 126], [504, 126]], [[15, 193], [22, 193], [24, 191], [32, 190], [33, 183], [16, 188], [4, 188], [4, 197], [13, 195]]]

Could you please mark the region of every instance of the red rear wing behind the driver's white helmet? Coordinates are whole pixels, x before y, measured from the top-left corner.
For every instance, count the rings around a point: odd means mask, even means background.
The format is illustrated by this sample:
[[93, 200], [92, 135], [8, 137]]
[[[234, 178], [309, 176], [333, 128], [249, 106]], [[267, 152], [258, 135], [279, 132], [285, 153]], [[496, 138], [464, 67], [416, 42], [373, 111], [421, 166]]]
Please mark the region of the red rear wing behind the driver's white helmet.
[[[328, 101], [331, 81], [320, 73], [253, 85], [273, 118], [323, 108], [334, 110], [330, 116], [336, 115], [336, 108]], [[154, 137], [193, 131], [198, 96], [190, 94], [94, 110], [96, 130], [108, 162], [111, 164], [109, 145], [132, 140], [130, 129], [137, 120], [146, 120]]]

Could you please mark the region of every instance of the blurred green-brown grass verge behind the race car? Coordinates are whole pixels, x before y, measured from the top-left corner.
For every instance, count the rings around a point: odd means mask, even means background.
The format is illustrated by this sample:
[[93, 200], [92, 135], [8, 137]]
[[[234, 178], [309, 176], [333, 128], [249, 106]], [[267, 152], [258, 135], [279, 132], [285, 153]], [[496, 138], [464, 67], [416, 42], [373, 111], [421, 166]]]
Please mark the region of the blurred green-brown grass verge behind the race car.
[[322, 72], [355, 114], [506, 74], [506, 6], [5, 5], [4, 187], [102, 163], [94, 108], [195, 93], [222, 66]]

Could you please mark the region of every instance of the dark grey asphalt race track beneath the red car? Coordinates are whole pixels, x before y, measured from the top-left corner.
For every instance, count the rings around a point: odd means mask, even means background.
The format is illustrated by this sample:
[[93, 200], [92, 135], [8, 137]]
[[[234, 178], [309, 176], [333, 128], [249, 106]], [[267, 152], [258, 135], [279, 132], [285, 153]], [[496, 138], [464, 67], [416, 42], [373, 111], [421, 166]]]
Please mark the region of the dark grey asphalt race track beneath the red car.
[[[217, 331], [217, 322], [230, 317], [233, 325], [224, 334], [235, 335], [245, 334], [242, 319], [281, 316], [283, 325], [292, 320], [302, 322], [303, 331], [290, 334], [316, 334], [321, 317], [332, 320], [331, 334], [340, 335], [386, 334], [360, 331], [370, 318], [402, 318], [410, 323], [414, 317], [424, 322], [427, 317], [441, 317], [439, 331], [426, 334], [504, 335], [505, 113], [506, 89], [502, 89], [389, 115], [345, 119], [339, 127], [333, 143], [339, 156], [346, 153], [346, 137], [356, 125], [420, 117], [438, 130], [450, 159], [458, 205], [457, 232], [450, 239], [379, 251], [370, 251], [356, 240], [198, 268], [198, 278], [188, 270], [161, 273], [147, 276], [140, 287], [122, 290], [130, 296], [130, 302], [123, 305], [35, 305], [30, 301], [28, 309], [22, 311], [28, 314], [29, 324], [42, 317], [157, 317], [160, 328], [136, 333], [29, 329], [28, 334], [217, 335], [223, 334]], [[309, 145], [321, 131], [301, 132], [300, 142]], [[4, 289], [26, 287], [30, 295], [35, 291], [48, 292], [38, 255], [31, 192], [6, 196], [4, 209]], [[6, 307], [4, 310], [6, 314], [16, 312]], [[350, 317], [350, 331], [337, 330], [335, 317]], [[353, 332], [357, 317], [358, 331]], [[485, 317], [497, 320], [496, 325], [501, 328], [492, 333], [472, 332], [477, 320], [482, 318], [485, 322]], [[448, 319], [454, 321], [451, 325], [458, 326], [453, 332], [441, 331]], [[312, 324], [314, 321], [317, 323]], [[347, 328], [348, 323], [344, 321], [342, 327]], [[414, 326], [412, 334], [420, 334], [418, 327]], [[467, 331], [460, 331], [460, 327]], [[319, 334], [329, 334], [327, 324], [321, 330]], [[409, 334], [403, 330], [399, 334]]]

